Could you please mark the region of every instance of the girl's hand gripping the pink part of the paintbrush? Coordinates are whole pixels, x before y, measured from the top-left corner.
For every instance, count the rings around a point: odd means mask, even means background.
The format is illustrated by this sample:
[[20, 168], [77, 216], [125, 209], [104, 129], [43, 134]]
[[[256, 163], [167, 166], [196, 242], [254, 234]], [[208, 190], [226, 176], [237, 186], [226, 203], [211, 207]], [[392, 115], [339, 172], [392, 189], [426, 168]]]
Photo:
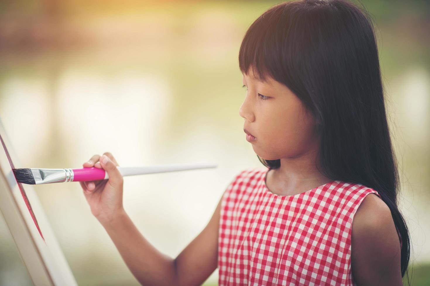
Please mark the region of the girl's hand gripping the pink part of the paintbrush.
[[109, 223], [124, 211], [123, 176], [117, 169], [118, 163], [111, 153], [106, 152], [101, 157], [94, 155], [82, 166], [104, 169], [109, 175], [105, 180], [80, 182], [92, 214], [100, 223]]

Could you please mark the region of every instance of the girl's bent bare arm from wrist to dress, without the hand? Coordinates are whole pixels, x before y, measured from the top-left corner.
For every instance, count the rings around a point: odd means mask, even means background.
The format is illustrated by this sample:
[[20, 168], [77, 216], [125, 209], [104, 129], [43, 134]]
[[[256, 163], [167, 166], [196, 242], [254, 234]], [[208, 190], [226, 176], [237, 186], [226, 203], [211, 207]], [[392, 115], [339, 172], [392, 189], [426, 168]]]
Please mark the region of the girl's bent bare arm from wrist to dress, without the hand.
[[221, 200], [208, 225], [175, 259], [152, 246], [125, 211], [102, 224], [142, 285], [201, 285], [217, 268]]

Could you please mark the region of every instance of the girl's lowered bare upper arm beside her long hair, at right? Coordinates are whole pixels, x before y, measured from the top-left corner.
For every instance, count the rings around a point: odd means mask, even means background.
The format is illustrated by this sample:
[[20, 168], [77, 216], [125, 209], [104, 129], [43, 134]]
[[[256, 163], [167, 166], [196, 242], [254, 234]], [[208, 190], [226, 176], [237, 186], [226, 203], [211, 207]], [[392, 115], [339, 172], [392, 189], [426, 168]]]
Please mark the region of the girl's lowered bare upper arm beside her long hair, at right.
[[390, 208], [367, 195], [353, 218], [351, 268], [357, 285], [403, 285], [400, 242]]

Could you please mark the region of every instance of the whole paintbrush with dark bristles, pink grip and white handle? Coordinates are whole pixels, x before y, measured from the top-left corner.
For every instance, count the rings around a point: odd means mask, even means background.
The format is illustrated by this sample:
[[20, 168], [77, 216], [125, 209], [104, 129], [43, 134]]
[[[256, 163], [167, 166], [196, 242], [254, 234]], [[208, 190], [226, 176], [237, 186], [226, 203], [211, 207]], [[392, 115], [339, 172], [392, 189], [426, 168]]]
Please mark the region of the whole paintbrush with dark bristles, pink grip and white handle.
[[[164, 172], [177, 172], [184, 170], [215, 168], [214, 164], [169, 164], [141, 167], [119, 167], [121, 175], [133, 176], [143, 174], [155, 174]], [[22, 184], [39, 185], [62, 182], [84, 182], [97, 181], [109, 178], [104, 169], [95, 167], [80, 169], [40, 169], [40, 168], [23, 168], [12, 169], [16, 181]]]

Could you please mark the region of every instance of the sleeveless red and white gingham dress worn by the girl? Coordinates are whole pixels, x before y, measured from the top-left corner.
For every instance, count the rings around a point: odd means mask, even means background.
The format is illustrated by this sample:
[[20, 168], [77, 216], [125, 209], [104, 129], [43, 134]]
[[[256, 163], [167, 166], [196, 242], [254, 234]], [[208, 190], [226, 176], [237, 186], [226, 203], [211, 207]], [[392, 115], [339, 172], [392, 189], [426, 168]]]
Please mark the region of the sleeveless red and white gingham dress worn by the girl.
[[267, 189], [268, 170], [240, 172], [222, 197], [219, 285], [355, 285], [352, 220], [365, 196], [378, 192], [332, 181], [279, 196]]

